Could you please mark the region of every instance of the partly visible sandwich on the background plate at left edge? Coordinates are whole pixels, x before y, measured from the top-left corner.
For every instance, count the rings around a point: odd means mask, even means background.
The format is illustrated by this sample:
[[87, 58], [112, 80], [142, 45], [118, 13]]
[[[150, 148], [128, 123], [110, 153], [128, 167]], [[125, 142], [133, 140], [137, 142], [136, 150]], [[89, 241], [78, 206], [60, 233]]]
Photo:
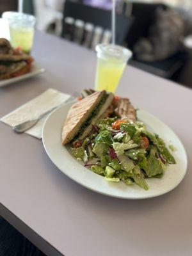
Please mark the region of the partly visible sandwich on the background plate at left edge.
[[8, 40], [0, 38], [0, 80], [28, 73], [32, 62], [31, 56], [22, 52], [19, 47], [13, 49]]

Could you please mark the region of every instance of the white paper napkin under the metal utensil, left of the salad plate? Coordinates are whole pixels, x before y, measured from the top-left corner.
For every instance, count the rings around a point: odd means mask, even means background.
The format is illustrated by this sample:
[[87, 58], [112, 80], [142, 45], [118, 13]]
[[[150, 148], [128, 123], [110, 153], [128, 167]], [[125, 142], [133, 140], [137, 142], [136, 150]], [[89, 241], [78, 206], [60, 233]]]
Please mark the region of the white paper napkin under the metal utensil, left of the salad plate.
[[[70, 95], [49, 88], [35, 99], [30, 100], [29, 102], [15, 109], [8, 115], [3, 116], [1, 118], [1, 122], [4, 122], [5, 124], [13, 127], [14, 125], [21, 124], [22, 122], [33, 120], [35, 118], [38, 118], [38, 116], [44, 114], [45, 112], [51, 110], [52, 108], [60, 106], [69, 98]], [[42, 128], [44, 126], [47, 115], [45, 115], [35, 126], [26, 131], [26, 133], [38, 139], [41, 139]]]

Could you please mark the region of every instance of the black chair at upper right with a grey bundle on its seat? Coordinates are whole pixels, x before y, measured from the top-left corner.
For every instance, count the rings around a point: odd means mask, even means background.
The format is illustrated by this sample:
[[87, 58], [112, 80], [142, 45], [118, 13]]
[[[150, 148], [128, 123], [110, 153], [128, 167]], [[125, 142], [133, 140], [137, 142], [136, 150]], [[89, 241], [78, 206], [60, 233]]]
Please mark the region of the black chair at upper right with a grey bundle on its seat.
[[[154, 22], [156, 12], [159, 8], [166, 10], [168, 6], [159, 3], [132, 3], [132, 16], [134, 22], [132, 22], [126, 40], [129, 49], [133, 49], [134, 44], [136, 44], [138, 39], [148, 36], [148, 29]], [[186, 52], [181, 50], [166, 60], [153, 62], [137, 60], [136, 56], [133, 54], [130, 64], [155, 74], [156, 76], [172, 79], [185, 62]]]

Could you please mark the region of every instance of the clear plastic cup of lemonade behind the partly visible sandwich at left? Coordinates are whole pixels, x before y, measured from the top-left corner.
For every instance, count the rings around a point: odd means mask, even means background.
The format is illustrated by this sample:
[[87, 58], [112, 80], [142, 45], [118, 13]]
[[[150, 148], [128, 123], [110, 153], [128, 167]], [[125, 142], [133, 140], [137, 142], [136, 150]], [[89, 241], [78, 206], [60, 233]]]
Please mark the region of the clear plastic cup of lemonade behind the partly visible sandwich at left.
[[20, 12], [4, 12], [2, 17], [8, 19], [12, 46], [29, 53], [33, 46], [35, 17]]

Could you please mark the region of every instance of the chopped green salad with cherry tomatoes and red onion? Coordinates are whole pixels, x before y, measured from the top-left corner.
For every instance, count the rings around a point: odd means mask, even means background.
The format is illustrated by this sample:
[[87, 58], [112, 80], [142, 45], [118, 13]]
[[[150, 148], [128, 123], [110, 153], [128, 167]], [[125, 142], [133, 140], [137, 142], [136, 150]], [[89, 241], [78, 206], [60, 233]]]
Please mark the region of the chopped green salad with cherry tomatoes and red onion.
[[101, 119], [84, 141], [72, 143], [72, 155], [111, 182], [122, 180], [148, 189], [145, 178], [163, 176], [175, 164], [164, 141], [141, 122]]

